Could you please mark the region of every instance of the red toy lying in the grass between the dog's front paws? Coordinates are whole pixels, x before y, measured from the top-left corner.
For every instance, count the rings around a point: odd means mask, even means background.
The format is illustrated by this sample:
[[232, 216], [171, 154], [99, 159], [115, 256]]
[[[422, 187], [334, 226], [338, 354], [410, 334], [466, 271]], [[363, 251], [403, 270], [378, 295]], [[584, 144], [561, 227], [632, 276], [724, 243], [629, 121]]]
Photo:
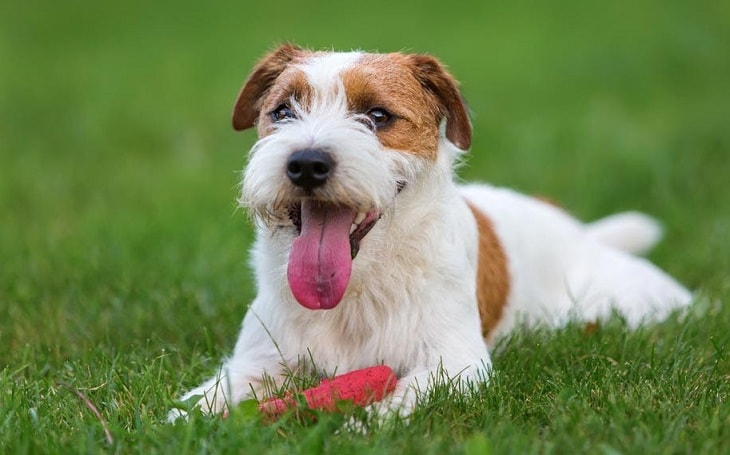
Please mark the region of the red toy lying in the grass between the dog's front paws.
[[[351, 401], [356, 406], [367, 406], [393, 392], [397, 378], [390, 367], [381, 365], [351, 371], [303, 391], [309, 409], [336, 411], [339, 401]], [[269, 398], [259, 403], [259, 410], [276, 418], [297, 407], [295, 397]]]

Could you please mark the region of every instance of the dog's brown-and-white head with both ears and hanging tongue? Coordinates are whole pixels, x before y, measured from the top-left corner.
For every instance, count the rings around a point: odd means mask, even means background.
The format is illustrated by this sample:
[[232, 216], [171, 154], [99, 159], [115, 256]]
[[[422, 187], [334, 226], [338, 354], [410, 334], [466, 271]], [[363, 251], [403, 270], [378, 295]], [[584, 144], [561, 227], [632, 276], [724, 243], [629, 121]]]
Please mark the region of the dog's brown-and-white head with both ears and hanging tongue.
[[233, 126], [259, 141], [242, 205], [289, 233], [287, 277], [311, 309], [336, 306], [366, 235], [445, 137], [466, 150], [471, 126], [453, 78], [432, 57], [310, 52], [284, 45], [246, 81]]

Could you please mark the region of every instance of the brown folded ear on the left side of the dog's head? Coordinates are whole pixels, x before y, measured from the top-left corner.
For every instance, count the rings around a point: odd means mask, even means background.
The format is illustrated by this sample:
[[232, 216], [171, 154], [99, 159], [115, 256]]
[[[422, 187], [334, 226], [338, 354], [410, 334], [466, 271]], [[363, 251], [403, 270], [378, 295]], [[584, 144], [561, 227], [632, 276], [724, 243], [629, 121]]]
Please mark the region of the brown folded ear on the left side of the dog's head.
[[282, 44], [259, 61], [236, 99], [236, 105], [233, 108], [234, 130], [245, 130], [256, 124], [264, 96], [289, 62], [303, 52], [297, 46]]

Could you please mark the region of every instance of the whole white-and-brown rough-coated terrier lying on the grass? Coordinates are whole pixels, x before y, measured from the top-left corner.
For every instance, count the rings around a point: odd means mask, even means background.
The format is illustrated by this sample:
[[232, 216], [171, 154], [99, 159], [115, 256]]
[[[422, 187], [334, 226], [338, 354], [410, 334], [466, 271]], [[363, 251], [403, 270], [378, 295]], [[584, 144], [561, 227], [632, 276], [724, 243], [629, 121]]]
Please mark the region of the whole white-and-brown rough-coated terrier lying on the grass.
[[205, 412], [260, 398], [311, 359], [323, 374], [389, 365], [399, 379], [384, 406], [408, 413], [437, 373], [484, 380], [489, 347], [515, 326], [614, 312], [637, 326], [692, 300], [633, 255], [659, 240], [649, 217], [583, 224], [457, 185], [471, 125], [431, 56], [283, 45], [253, 69], [233, 126], [258, 129], [240, 198], [258, 231], [258, 295], [233, 355], [183, 397]]

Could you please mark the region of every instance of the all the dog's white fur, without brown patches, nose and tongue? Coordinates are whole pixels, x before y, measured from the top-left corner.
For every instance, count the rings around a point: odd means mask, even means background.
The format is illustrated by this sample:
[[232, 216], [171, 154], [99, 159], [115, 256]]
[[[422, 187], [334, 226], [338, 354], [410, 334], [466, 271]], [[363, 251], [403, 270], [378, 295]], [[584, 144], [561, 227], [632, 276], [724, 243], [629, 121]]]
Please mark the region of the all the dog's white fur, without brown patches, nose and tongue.
[[[258, 295], [233, 355], [183, 399], [202, 396], [204, 410], [221, 412], [261, 397], [264, 377], [281, 383], [287, 369], [308, 359], [323, 374], [391, 366], [400, 379], [386, 406], [403, 412], [438, 371], [462, 383], [482, 380], [491, 361], [475, 297], [478, 232], [465, 198], [490, 218], [508, 258], [510, 293], [498, 335], [519, 322], [559, 326], [604, 318], [612, 309], [633, 326], [689, 303], [689, 292], [672, 278], [615, 248], [647, 246], [651, 223], [623, 229], [627, 224], [614, 219], [612, 228], [586, 227], [510, 190], [458, 187], [452, 171], [458, 151], [445, 139], [435, 161], [385, 149], [347, 112], [339, 73], [358, 56], [326, 54], [304, 64], [316, 88], [314, 105], [296, 107], [297, 120], [253, 147], [241, 203], [259, 221], [251, 258]], [[326, 148], [338, 163], [322, 197], [382, 213], [353, 262], [343, 300], [326, 311], [299, 305], [286, 277], [296, 233], [282, 210], [295, 191], [282, 172], [287, 157], [305, 147]], [[407, 182], [400, 193], [398, 181]], [[638, 240], [626, 246], [627, 236]]]

